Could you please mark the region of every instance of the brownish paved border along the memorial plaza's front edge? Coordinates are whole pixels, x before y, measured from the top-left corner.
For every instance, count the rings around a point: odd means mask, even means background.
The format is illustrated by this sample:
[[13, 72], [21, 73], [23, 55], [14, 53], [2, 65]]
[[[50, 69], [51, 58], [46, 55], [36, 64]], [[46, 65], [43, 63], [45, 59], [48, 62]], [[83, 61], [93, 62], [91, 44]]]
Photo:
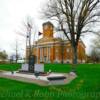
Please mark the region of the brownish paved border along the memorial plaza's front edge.
[[[65, 76], [67, 77], [67, 79], [64, 80], [64, 84], [69, 84], [73, 79], [75, 79], [77, 77], [75, 75], [70, 75], [70, 74], [65, 74]], [[48, 86], [49, 85], [49, 82], [45, 81], [45, 80], [39, 80], [38, 78], [32, 79], [32, 78], [15, 76], [15, 75], [6, 75], [6, 74], [3, 74], [3, 71], [0, 71], [0, 77], [17, 80], [17, 81], [21, 81], [21, 82], [34, 83], [34, 84], [38, 84], [40, 86]]]

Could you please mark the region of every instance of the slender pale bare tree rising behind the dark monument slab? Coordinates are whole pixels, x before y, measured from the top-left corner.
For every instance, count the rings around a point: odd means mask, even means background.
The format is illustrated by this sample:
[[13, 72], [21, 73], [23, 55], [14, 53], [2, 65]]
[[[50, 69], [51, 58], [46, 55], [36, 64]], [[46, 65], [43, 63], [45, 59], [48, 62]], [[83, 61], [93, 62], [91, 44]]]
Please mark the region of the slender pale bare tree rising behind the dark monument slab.
[[[22, 32], [17, 32], [17, 34], [26, 38], [26, 56], [27, 56], [26, 62], [29, 65], [29, 71], [31, 71], [31, 69], [32, 71], [34, 70], [33, 68], [34, 66], [32, 66], [30, 63], [31, 63], [32, 56], [34, 56], [32, 54], [33, 52], [32, 42], [34, 42], [35, 34], [32, 34], [32, 33], [33, 32], [35, 33], [35, 31], [36, 31], [36, 27], [35, 27], [35, 23], [33, 23], [33, 18], [30, 16], [27, 16], [27, 18], [23, 22]], [[32, 35], [34, 35], [33, 38], [32, 38]]]

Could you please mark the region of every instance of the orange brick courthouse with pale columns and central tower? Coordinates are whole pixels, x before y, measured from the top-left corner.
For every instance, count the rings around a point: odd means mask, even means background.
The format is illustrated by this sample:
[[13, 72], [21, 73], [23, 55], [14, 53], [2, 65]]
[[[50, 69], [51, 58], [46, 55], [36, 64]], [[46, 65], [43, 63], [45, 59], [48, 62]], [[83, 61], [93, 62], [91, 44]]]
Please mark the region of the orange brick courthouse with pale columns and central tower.
[[[54, 26], [51, 22], [43, 24], [43, 38], [36, 41], [32, 49], [36, 63], [72, 63], [73, 51], [68, 40], [54, 37]], [[78, 63], [86, 62], [85, 45], [78, 43]], [[26, 52], [28, 58], [28, 49]]]

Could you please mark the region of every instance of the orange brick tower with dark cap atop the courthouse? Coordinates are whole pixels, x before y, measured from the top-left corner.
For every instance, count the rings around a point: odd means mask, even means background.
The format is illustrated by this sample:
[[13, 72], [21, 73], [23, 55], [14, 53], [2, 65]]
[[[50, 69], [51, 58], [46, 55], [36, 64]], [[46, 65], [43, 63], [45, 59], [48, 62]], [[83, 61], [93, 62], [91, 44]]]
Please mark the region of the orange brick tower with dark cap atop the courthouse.
[[51, 22], [46, 22], [43, 24], [43, 37], [53, 38], [53, 24]]

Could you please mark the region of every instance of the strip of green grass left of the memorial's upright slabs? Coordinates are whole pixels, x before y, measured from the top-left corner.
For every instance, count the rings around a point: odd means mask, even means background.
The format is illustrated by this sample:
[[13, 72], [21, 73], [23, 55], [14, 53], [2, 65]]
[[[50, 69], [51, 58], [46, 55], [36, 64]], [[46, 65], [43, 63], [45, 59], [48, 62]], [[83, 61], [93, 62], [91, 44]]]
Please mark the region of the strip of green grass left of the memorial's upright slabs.
[[15, 71], [21, 67], [21, 64], [0, 64], [0, 70]]

